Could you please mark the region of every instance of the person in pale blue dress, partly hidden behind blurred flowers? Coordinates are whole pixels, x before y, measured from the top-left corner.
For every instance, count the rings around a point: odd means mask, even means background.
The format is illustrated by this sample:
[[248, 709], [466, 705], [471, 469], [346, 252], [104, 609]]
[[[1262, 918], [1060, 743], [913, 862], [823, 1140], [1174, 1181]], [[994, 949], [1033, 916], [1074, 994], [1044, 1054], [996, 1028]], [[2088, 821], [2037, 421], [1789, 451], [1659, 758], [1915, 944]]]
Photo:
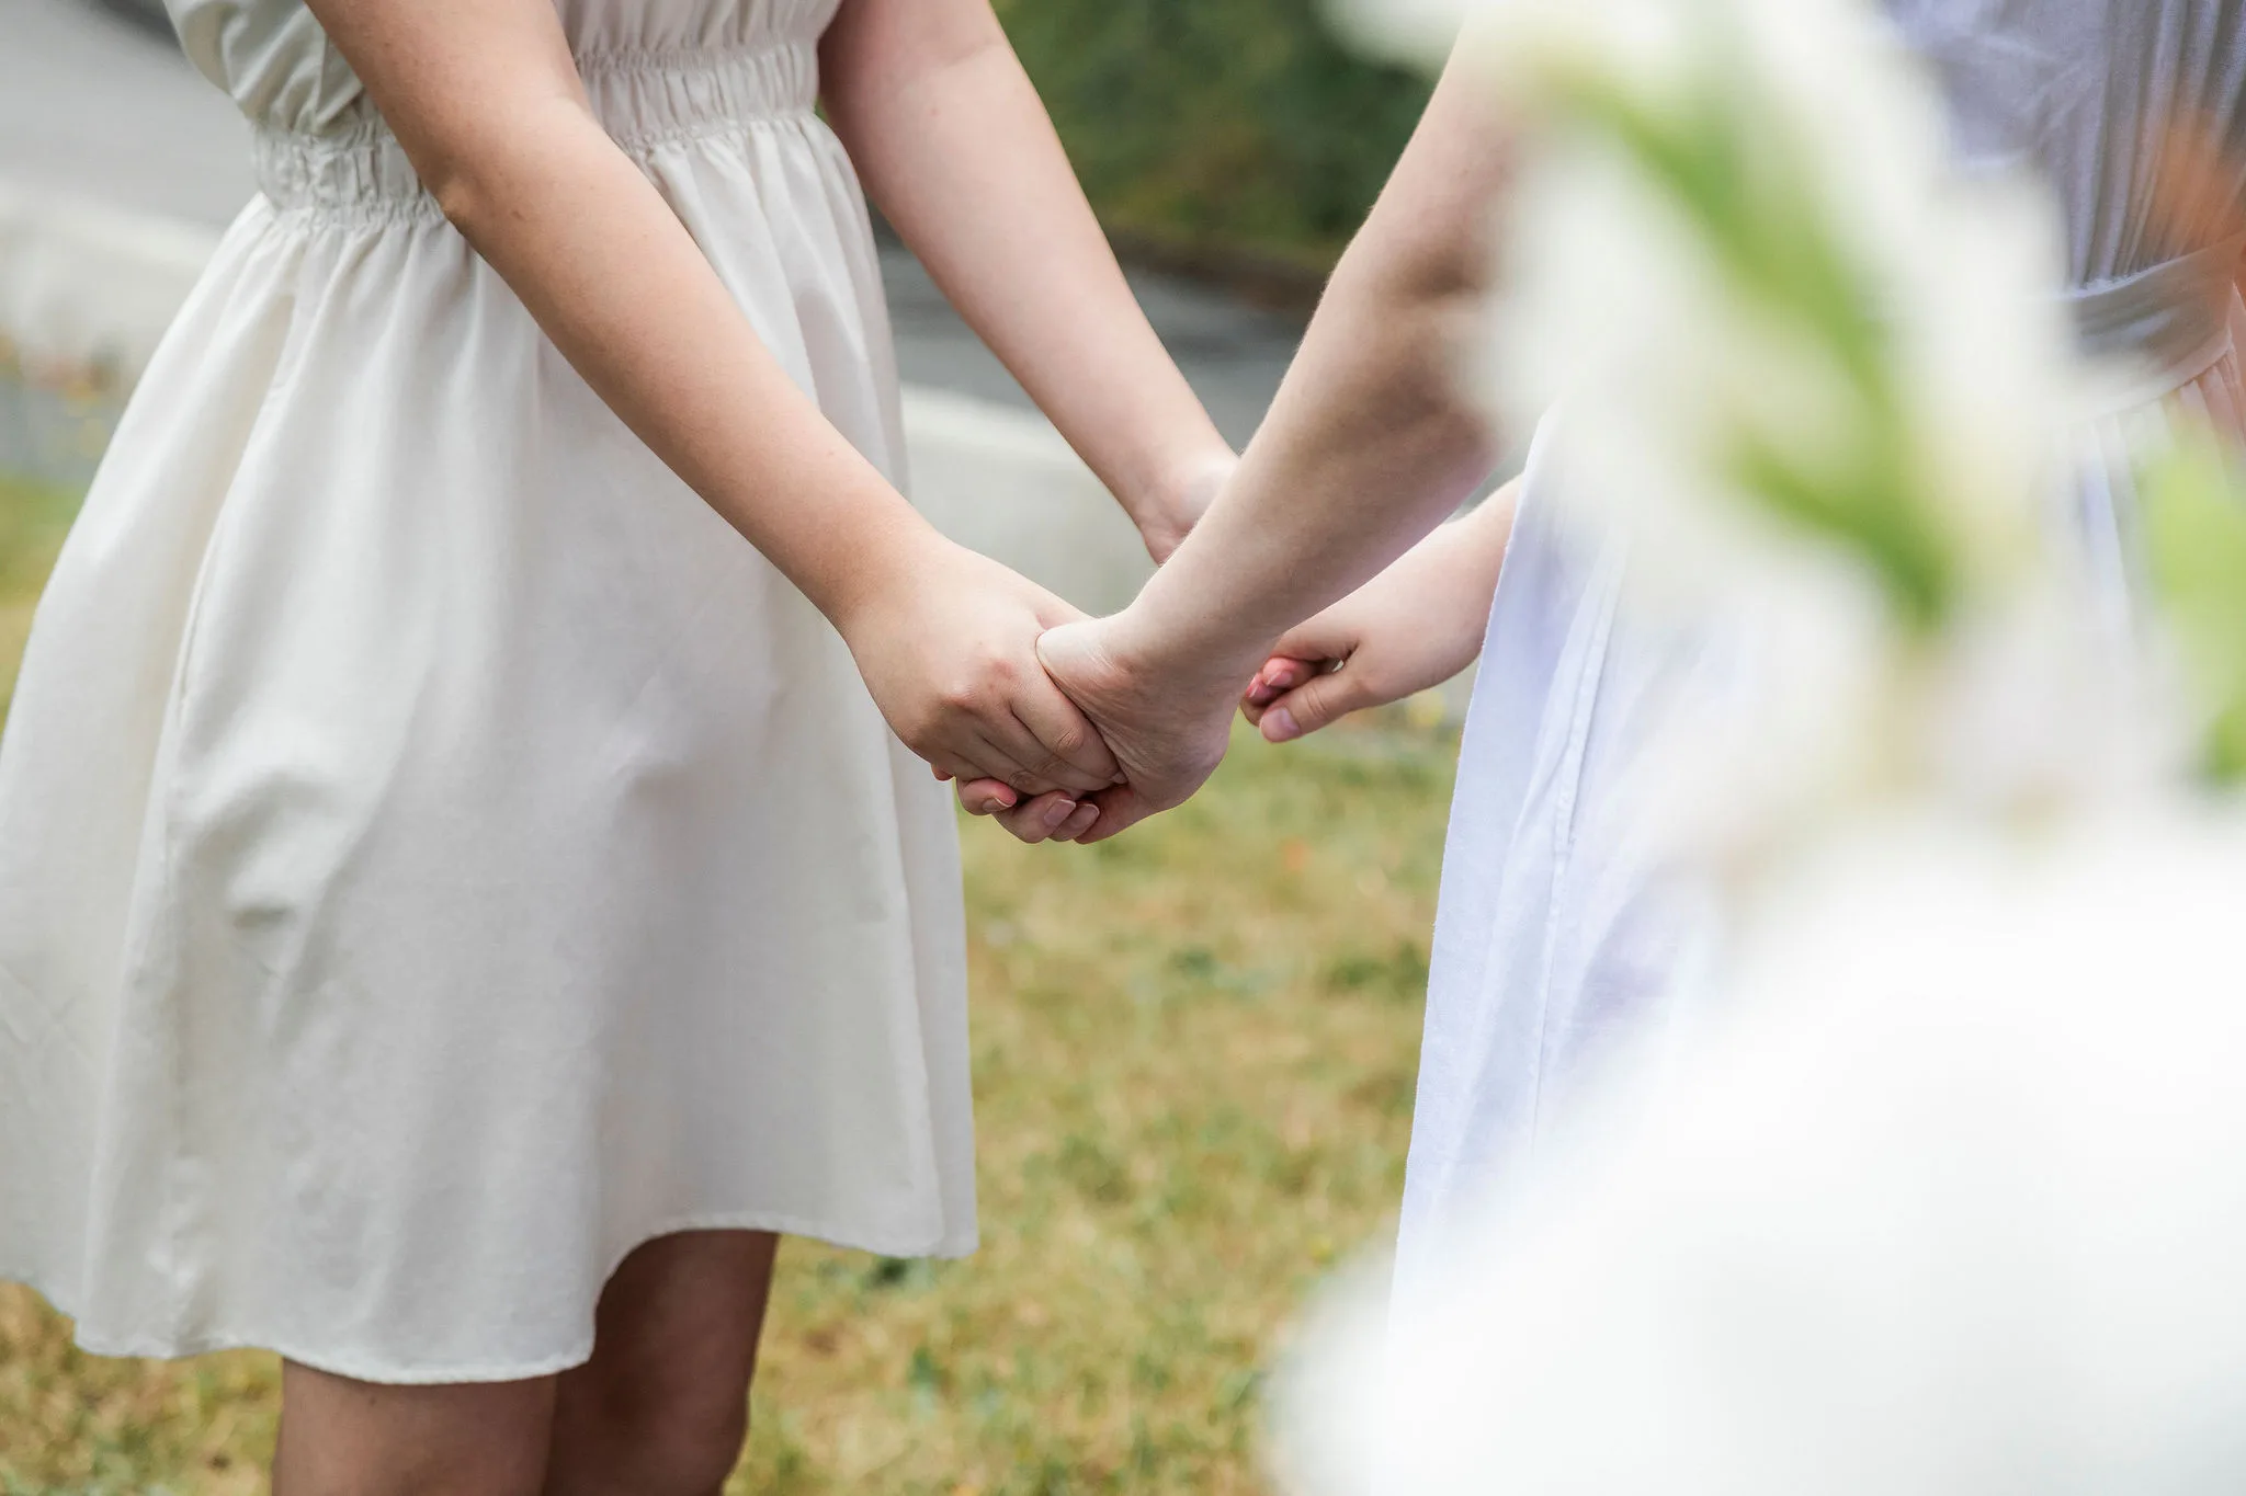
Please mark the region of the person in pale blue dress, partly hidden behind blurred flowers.
[[[1963, 164], [2030, 166], [2057, 195], [2080, 341], [2138, 375], [2073, 433], [2087, 460], [2057, 489], [2060, 527], [2127, 628], [2134, 462], [2179, 417], [2246, 435], [2246, 4], [1887, 11], [1938, 74]], [[1262, 733], [1291, 740], [1435, 686], [1480, 650], [1399, 1292], [1433, 1281], [1442, 1243], [1512, 1193], [1606, 1056], [1693, 1021], [1720, 967], [1711, 890], [1633, 816], [1642, 785], [1667, 781], [1658, 727], [1680, 700], [1723, 691], [1727, 662], [1705, 637], [1640, 626], [1622, 601], [1626, 543], [1592, 547], [1556, 520], [1563, 496], [1534, 449], [1521, 484], [1437, 527], [1489, 467], [1458, 370], [1491, 289], [1500, 105], [1462, 49], [1220, 502], [1132, 608], [1042, 644], [1130, 778], [1094, 796], [1096, 821], [1067, 825], [1083, 839], [1186, 798], [1224, 754], [1242, 680]], [[1042, 834], [1035, 801], [1004, 807], [993, 785], [961, 798]]]

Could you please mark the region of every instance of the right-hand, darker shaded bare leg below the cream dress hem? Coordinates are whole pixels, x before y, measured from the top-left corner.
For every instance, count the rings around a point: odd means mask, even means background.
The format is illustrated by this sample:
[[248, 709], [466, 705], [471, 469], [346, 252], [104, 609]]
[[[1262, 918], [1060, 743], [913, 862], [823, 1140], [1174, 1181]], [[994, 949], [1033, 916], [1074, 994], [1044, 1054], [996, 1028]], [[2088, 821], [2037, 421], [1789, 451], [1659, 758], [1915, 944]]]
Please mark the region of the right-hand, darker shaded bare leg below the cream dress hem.
[[748, 1438], [777, 1249], [766, 1231], [685, 1231], [624, 1258], [593, 1359], [555, 1391], [546, 1496], [716, 1496]]

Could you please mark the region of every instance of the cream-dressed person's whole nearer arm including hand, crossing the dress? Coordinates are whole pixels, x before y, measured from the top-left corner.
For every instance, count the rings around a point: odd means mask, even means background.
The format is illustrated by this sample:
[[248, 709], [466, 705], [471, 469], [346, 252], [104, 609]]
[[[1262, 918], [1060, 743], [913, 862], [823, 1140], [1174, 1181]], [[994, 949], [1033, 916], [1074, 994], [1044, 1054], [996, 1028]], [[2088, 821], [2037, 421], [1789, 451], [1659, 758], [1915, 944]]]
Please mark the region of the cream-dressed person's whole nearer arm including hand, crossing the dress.
[[842, 630], [914, 751], [1020, 785], [1105, 783], [1098, 738], [1024, 668], [1031, 619], [1069, 610], [943, 541], [795, 388], [593, 117], [548, 0], [310, 2], [445, 215]]

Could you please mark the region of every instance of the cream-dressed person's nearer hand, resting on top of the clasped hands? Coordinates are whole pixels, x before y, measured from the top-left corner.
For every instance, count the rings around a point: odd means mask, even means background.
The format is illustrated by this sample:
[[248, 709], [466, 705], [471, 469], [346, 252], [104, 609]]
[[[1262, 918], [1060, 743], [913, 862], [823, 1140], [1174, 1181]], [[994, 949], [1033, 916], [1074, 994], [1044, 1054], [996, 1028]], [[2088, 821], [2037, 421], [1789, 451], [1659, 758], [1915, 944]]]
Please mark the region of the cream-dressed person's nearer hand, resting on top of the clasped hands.
[[[1038, 664], [1038, 635], [1083, 615], [997, 561], [939, 541], [836, 619], [889, 729], [984, 798], [1074, 796], [1116, 758]], [[1013, 796], [1013, 798], [1006, 798]]]

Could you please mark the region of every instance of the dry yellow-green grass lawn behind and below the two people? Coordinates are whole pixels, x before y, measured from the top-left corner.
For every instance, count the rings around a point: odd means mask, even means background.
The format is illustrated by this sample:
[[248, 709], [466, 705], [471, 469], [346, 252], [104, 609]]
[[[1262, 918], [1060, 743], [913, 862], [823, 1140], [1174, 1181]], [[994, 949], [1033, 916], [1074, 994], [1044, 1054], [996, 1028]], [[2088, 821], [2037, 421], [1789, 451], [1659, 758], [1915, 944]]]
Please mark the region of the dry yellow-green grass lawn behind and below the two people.
[[[61, 507], [0, 489], [0, 702]], [[968, 825], [984, 1247], [788, 1243], [732, 1492], [1262, 1489], [1258, 1368], [1395, 1209], [1451, 745], [1242, 736], [1101, 848]], [[0, 1496], [254, 1492], [265, 1355], [101, 1361], [0, 1287]]]

